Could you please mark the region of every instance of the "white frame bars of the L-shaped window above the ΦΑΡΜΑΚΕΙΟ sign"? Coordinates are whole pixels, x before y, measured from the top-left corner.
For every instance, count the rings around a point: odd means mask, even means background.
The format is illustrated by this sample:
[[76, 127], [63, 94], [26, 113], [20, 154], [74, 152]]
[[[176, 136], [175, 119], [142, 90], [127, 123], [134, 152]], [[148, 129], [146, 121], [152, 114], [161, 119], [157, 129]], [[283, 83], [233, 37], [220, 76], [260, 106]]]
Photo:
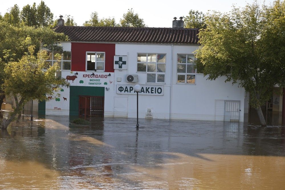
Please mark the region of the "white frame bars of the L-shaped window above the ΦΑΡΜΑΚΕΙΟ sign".
[[[146, 62], [138, 62], [137, 60], [137, 73], [146, 73], [146, 83], [159, 83], [159, 84], [165, 84], [166, 82], [166, 53], [137, 53], [137, 57], [136, 59], [138, 59], [138, 54], [146, 54]], [[156, 62], [148, 62], [147, 59], [148, 59], [148, 54], [155, 54], [156, 55]], [[159, 63], [157, 62], [157, 55], [158, 54], [163, 54], [165, 55], [165, 63]], [[145, 63], [146, 64], [146, 71], [138, 71], [138, 63]], [[149, 72], [147, 71], [147, 64], [155, 64], [155, 72]], [[165, 64], [165, 72], [158, 72], [157, 71], [157, 64]], [[155, 82], [147, 82], [147, 74], [155, 74]], [[157, 75], [164, 75], [164, 82], [157, 82]]]

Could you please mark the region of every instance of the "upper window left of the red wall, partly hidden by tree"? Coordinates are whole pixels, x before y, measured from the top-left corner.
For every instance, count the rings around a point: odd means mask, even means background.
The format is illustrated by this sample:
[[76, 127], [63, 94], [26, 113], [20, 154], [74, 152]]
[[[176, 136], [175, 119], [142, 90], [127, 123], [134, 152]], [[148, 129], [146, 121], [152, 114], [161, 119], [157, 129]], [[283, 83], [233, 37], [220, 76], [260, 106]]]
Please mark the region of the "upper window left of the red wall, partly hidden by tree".
[[71, 52], [63, 52], [61, 60], [57, 60], [55, 55], [57, 52], [49, 52], [48, 51], [48, 60], [50, 66], [52, 66], [55, 62], [58, 62], [58, 66], [60, 70], [70, 70], [71, 69]]

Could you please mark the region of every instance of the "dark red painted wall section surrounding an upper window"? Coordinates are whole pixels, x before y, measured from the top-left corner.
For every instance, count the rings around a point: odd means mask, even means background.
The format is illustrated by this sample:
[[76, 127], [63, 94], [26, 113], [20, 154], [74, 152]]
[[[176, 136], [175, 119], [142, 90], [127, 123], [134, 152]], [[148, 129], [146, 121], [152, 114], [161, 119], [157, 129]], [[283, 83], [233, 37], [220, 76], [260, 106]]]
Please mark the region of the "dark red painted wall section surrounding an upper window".
[[86, 52], [105, 52], [105, 72], [114, 72], [115, 44], [71, 43], [71, 70], [86, 71]]

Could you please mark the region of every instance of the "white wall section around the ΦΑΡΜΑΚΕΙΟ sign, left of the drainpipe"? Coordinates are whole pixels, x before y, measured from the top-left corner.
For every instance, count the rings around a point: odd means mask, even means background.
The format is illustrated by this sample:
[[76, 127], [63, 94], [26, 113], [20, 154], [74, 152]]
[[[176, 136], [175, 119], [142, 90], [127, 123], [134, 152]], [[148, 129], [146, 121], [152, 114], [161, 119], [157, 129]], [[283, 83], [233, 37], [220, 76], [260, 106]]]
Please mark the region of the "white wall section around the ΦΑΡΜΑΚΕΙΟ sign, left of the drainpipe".
[[[156, 53], [166, 54], [166, 76], [165, 83], [146, 83], [146, 73], [137, 73], [137, 53]], [[114, 101], [121, 100], [127, 104], [125, 108], [122, 104], [116, 105], [114, 108], [115, 117], [137, 117], [137, 96], [117, 94], [117, 84], [133, 84], [126, 82], [126, 75], [136, 74], [139, 82], [135, 84], [141, 85], [163, 85], [164, 95], [139, 95], [139, 117], [144, 118], [146, 108], [153, 109], [153, 118], [169, 119], [170, 111], [170, 73], [171, 73], [171, 46], [169, 45], [149, 45], [149, 44], [116, 44], [116, 55], [128, 55], [128, 69], [115, 70], [115, 96]], [[122, 81], [117, 82], [117, 77], [121, 77]], [[123, 98], [124, 97], [124, 98]], [[121, 98], [121, 99], [120, 99]], [[127, 112], [127, 113], [126, 113]]]

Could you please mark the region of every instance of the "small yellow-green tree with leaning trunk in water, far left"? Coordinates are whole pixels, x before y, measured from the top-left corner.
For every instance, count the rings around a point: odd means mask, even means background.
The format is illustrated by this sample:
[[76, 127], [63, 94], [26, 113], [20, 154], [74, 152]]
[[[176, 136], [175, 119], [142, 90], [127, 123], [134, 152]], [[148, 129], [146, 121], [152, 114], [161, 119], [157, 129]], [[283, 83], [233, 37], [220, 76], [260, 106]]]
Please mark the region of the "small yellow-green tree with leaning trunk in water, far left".
[[[29, 40], [28, 37], [26, 41]], [[34, 49], [34, 45], [28, 46], [28, 52], [19, 61], [8, 62], [4, 69], [7, 77], [3, 87], [6, 94], [14, 96], [16, 107], [13, 108], [9, 119], [3, 119], [1, 129], [7, 129], [28, 100], [48, 101], [46, 94], [54, 95], [52, 87], [68, 85], [64, 78], [55, 76], [60, 69], [57, 63], [48, 67], [49, 64], [45, 61], [48, 59], [47, 52], [40, 50], [37, 56], [34, 56]], [[45, 71], [46, 67], [48, 69]]]

